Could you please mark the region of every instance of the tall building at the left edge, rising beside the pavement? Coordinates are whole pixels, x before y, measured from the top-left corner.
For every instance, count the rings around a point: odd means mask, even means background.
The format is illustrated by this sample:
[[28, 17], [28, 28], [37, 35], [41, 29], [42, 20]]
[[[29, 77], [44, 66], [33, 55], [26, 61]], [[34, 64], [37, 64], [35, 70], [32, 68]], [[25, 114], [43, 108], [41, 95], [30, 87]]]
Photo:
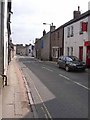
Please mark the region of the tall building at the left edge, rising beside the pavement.
[[8, 64], [11, 60], [11, 7], [10, 0], [0, 1], [0, 75], [7, 74]]

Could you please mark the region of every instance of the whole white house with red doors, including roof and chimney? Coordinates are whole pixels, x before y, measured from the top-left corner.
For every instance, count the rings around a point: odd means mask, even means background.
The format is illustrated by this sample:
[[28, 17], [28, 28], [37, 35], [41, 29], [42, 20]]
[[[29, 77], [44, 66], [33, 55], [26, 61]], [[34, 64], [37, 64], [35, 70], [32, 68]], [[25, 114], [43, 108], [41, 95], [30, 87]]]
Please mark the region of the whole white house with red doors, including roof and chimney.
[[78, 15], [64, 26], [64, 55], [77, 56], [90, 67], [90, 10], [80, 14], [78, 8]]

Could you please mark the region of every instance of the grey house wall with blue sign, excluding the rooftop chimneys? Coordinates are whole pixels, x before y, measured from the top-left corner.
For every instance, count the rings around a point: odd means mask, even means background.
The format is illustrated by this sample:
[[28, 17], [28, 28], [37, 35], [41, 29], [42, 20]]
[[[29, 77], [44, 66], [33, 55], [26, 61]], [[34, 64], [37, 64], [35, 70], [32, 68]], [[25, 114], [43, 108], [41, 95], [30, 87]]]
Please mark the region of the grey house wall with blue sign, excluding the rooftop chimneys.
[[50, 56], [50, 32], [44, 34], [35, 42], [36, 58], [41, 60], [49, 60]]

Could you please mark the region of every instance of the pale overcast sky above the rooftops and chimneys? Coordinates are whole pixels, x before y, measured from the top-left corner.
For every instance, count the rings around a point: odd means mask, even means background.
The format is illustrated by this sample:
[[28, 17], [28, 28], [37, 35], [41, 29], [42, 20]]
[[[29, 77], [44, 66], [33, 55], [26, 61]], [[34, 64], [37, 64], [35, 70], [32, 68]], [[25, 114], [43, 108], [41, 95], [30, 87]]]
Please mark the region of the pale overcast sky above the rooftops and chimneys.
[[13, 43], [29, 44], [41, 38], [49, 25], [56, 28], [73, 18], [73, 11], [80, 6], [81, 13], [88, 10], [89, 0], [13, 0], [12, 1], [12, 40]]

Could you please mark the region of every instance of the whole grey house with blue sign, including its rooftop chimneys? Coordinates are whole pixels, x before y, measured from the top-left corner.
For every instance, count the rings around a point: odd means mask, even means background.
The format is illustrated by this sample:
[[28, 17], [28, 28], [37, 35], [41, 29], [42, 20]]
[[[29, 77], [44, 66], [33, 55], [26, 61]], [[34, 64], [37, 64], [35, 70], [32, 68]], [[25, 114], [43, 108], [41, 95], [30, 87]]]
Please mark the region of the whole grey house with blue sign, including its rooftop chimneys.
[[35, 42], [35, 51], [36, 58], [41, 60], [50, 60], [52, 54], [52, 46], [51, 46], [51, 36], [52, 32], [55, 30], [55, 26], [53, 24], [50, 26], [50, 31], [46, 33], [43, 31], [43, 36], [40, 39], [36, 39]]

